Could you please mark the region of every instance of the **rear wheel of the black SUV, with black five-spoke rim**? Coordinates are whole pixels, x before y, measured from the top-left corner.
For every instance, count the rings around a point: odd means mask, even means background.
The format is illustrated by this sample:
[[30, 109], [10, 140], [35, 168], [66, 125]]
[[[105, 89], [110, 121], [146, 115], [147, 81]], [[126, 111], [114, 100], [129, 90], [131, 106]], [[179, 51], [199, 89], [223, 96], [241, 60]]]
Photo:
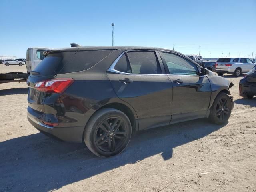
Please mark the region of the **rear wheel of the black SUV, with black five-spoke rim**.
[[84, 142], [88, 149], [99, 157], [121, 153], [132, 135], [129, 118], [114, 108], [100, 109], [88, 121]]

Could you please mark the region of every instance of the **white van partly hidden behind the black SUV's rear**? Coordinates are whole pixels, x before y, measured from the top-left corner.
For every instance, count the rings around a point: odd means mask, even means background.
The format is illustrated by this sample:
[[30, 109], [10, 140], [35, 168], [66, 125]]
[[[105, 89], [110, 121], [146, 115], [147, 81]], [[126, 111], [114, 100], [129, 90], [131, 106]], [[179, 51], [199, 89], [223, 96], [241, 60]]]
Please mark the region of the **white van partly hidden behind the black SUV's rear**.
[[34, 70], [44, 59], [44, 51], [50, 48], [28, 48], [26, 54], [27, 73]]

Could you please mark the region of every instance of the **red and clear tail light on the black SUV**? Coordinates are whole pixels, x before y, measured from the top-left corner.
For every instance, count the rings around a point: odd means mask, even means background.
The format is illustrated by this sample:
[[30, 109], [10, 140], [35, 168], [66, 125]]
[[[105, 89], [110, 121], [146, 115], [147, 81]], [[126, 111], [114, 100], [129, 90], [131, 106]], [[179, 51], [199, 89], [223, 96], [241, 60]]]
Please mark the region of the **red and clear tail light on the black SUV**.
[[73, 82], [71, 78], [56, 78], [37, 82], [35, 88], [47, 93], [63, 93]]

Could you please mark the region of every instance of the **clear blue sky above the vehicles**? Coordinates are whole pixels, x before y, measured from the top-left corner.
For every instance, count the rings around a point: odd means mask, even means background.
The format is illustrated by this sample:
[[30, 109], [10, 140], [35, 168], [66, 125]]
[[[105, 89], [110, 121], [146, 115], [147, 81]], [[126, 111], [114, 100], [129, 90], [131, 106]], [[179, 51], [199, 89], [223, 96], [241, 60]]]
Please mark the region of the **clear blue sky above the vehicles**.
[[173, 48], [209, 58], [256, 54], [256, 0], [1, 0], [0, 56], [29, 47]]

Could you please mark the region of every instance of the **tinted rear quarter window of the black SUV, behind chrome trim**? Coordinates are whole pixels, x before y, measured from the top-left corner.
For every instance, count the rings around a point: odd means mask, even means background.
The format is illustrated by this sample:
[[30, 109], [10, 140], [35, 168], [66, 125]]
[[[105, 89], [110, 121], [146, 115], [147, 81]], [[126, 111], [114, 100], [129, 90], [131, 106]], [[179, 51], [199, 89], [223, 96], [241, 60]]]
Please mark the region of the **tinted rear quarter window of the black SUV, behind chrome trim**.
[[60, 73], [71, 73], [91, 68], [114, 50], [78, 51], [72, 60], [64, 65]]

